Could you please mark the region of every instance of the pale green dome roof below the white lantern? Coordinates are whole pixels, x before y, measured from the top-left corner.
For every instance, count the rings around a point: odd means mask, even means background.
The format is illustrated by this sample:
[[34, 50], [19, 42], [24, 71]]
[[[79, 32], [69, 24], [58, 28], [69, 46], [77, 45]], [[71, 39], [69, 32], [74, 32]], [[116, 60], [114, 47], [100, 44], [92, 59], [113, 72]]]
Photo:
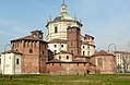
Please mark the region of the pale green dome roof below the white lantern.
[[67, 12], [61, 12], [54, 21], [58, 22], [61, 20], [67, 20], [67, 21], [74, 21]]

